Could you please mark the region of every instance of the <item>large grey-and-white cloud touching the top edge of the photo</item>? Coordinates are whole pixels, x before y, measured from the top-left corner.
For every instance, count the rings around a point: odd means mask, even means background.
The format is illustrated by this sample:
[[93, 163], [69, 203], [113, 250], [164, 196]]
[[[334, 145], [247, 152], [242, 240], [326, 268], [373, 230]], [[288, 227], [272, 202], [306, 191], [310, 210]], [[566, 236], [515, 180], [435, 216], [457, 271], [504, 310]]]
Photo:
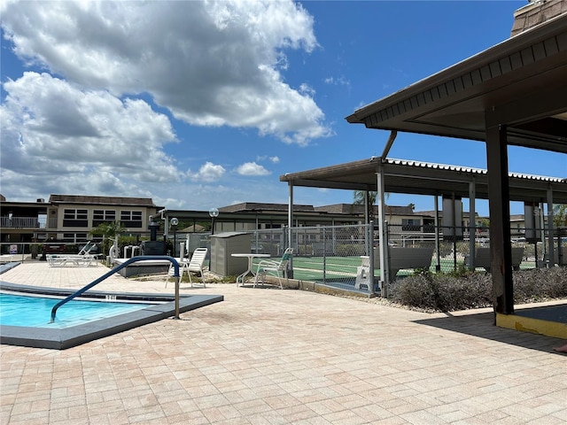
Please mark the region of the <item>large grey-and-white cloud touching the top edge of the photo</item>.
[[4, 4], [2, 25], [20, 58], [93, 92], [149, 93], [192, 125], [257, 128], [285, 143], [332, 135], [307, 86], [291, 89], [280, 73], [285, 50], [317, 47], [300, 4], [20, 2]]

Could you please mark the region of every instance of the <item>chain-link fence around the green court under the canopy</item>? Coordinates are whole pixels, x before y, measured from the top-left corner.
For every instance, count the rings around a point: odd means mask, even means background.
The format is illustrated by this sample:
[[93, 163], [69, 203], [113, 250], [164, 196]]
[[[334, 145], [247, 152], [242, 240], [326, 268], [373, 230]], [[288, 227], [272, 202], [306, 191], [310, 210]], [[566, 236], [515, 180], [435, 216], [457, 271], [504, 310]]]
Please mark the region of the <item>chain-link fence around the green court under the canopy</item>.
[[[313, 282], [340, 290], [355, 290], [367, 294], [380, 292], [379, 282], [392, 282], [409, 274], [423, 271], [460, 272], [474, 266], [478, 271], [490, 271], [490, 235], [487, 228], [476, 228], [474, 243], [468, 228], [437, 228], [431, 225], [385, 226], [384, 241], [388, 245], [385, 258], [378, 246], [378, 228], [374, 224], [350, 226], [315, 226], [272, 228], [243, 232], [250, 236], [250, 252], [269, 254], [276, 259], [288, 246], [293, 257], [288, 277], [297, 282]], [[529, 232], [528, 232], [529, 233]], [[438, 236], [439, 235], [439, 236]], [[526, 239], [526, 229], [511, 231], [512, 263], [517, 270], [553, 265], [567, 265], [567, 229], [555, 229], [552, 241], [540, 232], [538, 239]], [[565, 236], [563, 236], [565, 235]], [[175, 255], [179, 243], [189, 241], [187, 252], [204, 246], [210, 251], [210, 234], [177, 234], [171, 241]], [[170, 236], [171, 239], [171, 236]], [[5, 246], [4, 246], [5, 245]], [[66, 244], [66, 250], [79, 244]], [[550, 259], [553, 246], [554, 259]], [[11, 259], [21, 261], [35, 254], [31, 243], [5, 243], [2, 251], [13, 252]], [[471, 255], [474, 251], [474, 256]], [[8, 256], [5, 257], [6, 259]], [[260, 261], [260, 259], [255, 259]], [[381, 267], [382, 262], [388, 267]], [[382, 271], [384, 268], [384, 271]], [[382, 276], [384, 274], [384, 276]]]

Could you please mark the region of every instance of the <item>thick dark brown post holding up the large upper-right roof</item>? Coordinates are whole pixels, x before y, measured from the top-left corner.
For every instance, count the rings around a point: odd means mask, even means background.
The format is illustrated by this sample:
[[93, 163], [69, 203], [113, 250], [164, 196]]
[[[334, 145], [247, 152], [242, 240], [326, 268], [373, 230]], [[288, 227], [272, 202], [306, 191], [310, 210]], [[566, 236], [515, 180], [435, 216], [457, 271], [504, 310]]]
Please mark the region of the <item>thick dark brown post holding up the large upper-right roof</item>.
[[490, 212], [490, 252], [493, 276], [494, 313], [514, 313], [508, 142], [505, 126], [486, 128], [488, 205]]

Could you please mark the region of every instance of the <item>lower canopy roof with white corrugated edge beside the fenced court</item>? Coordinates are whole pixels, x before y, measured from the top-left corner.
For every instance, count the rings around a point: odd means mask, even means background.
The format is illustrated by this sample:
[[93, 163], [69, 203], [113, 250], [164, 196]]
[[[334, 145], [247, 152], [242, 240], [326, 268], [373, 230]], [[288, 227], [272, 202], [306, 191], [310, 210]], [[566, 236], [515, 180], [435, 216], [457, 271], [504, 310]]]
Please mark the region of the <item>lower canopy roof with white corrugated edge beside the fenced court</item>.
[[[488, 172], [484, 169], [393, 158], [371, 157], [284, 174], [280, 182], [313, 188], [377, 191], [379, 167], [384, 170], [384, 190], [388, 193], [431, 196], [454, 193], [456, 197], [469, 197], [470, 182], [474, 182], [476, 197], [488, 199]], [[567, 179], [510, 173], [509, 187], [511, 201], [545, 202], [548, 189], [552, 189], [555, 203], [567, 204]]]

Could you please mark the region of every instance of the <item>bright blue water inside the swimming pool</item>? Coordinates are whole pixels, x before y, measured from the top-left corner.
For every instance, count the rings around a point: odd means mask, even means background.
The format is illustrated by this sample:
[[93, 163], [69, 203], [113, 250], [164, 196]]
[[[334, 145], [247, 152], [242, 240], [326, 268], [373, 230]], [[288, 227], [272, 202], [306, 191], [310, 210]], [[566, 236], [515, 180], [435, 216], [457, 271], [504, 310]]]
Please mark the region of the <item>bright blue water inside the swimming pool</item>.
[[56, 319], [50, 323], [51, 308], [61, 298], [42, 298], [12, 295], [0, 292], [0, 324], [33, 328], [68, 328], [98, 321], [122, 313], [131, 313], [151, 304], [76, 301], [71, 300], [58, 308]]

